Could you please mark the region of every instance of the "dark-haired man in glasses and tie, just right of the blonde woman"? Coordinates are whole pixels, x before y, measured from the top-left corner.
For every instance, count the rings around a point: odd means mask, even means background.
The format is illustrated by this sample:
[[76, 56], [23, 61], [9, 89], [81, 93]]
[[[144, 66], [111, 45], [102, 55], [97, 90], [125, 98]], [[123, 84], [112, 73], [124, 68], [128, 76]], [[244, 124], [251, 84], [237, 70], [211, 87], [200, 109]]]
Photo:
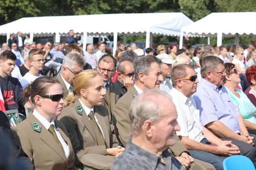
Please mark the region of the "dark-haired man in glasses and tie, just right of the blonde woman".
[[119, 87], [110, 81], [116, 72], [116, 66], [117, 60], [111, 55], [103, 55], [100, 57], [97, 65], [97, 71], [104, 82], [103, 88], [106, 90], [102, 105], [108, 110], [110, 123], [112, 123], [114, 107], [120, 95]]

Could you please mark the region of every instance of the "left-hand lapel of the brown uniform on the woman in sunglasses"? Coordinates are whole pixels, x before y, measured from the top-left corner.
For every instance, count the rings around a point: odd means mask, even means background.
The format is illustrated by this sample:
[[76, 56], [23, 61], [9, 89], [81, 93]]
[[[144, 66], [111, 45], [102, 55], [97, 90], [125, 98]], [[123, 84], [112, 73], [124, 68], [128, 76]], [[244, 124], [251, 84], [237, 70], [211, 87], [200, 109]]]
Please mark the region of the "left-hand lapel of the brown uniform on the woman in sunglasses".
[[51, 147], [58, 155], [60, 155], [65, 163], [67, 163], [64, 150], [54, 140], [52, 134], [43, 126], [43, 124], [33, 114], [29, 114], [28, 120], [30, 123], [36, 122], [41, 126], [40, 139], [45, 142], [49, 147]]

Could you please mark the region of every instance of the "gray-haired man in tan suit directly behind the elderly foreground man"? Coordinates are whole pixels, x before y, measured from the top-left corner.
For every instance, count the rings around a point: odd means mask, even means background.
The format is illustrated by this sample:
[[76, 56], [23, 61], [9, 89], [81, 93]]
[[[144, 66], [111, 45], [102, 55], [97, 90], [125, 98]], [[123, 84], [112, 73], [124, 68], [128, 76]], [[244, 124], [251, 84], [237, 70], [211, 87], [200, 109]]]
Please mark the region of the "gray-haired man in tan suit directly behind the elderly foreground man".
[[[138, 57], [134, 61], [135, 84], [118, 100], [113, 116], [116, 137], [119, 144], [123, 144], [124, 147], [127, 140], [131, 137], [128, 108], [133, 99], [143, 93], [143, 91], [153, 88], [159, 89], [160, 82], [163, 81], [160, 68], [161, 63], [161, 60], [155, 56]], [[193, 160], [177, 135], [174, 135], [174, 139], [176, 142], [169, 149], [186, 168], [191, 167], [191, 170], [215, 170], [211, 164]], [[194, 163], [192, 163], [193, 161]]]

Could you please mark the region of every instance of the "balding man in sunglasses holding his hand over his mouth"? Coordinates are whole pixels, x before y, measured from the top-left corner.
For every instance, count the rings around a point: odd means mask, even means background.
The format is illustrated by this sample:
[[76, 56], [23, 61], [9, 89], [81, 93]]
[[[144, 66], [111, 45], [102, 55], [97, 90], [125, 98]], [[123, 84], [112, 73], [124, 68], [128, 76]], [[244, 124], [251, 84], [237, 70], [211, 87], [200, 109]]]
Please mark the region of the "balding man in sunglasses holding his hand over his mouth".
[[134, 84], [134, 68], [130, 61], [122, 61], [117, 67], [117, 80], [114, 83], [119, 87], [122, 97]]

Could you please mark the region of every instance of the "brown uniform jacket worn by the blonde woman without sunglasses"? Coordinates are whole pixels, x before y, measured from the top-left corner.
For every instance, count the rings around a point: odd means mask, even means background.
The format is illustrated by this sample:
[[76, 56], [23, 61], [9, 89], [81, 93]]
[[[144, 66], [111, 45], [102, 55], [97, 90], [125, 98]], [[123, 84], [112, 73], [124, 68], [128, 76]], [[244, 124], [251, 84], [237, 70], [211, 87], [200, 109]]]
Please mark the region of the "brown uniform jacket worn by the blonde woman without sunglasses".
[[117, 146], [115, 137], [110, 128], [107, 109], [104, 106], [95, 106], [94, 113], [103, 131], [106, 145], [97, 145], [96, 134], [85, 111], [79, 107], [81, 103], [77, 99], [64, 108], [58, 120], [64, 123], [76, 153], [75, 165], [82, 165], [80, 159], [84, 154], [95, 153], [107, 155], [107, 148]]

